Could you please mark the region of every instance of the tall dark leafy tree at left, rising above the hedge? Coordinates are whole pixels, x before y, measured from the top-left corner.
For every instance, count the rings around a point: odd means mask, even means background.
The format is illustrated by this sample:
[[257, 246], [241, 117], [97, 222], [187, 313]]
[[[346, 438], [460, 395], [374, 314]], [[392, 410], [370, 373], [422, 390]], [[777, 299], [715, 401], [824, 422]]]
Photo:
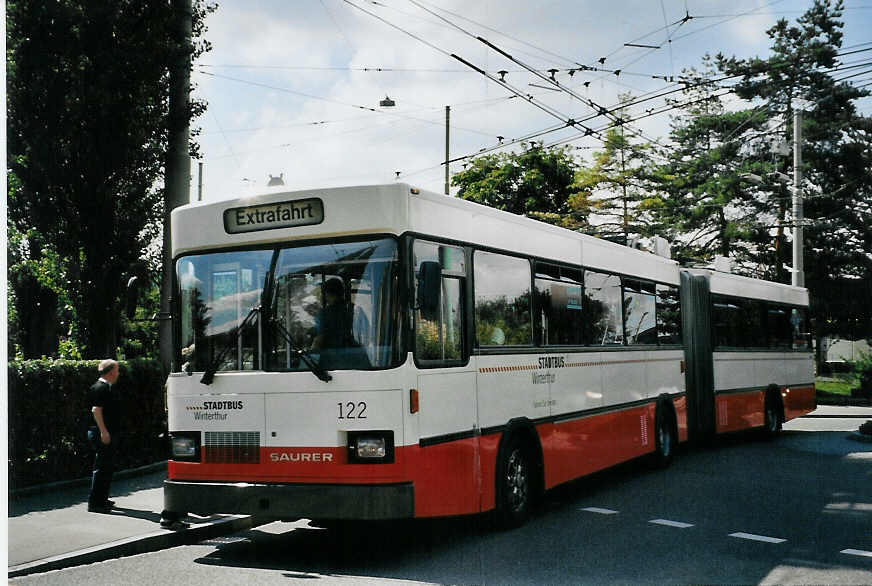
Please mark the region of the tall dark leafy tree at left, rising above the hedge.
[[[162, 213], [168, 66], [209, 49], [214, 9], [195, 2], [185, 47], [166, 0], [7, 1], [8, 223], [25, 260], [57, 259], [86, 356], [115, 353], [122, 274]], [[18, 299], [22, 324], [57, 311]]]

